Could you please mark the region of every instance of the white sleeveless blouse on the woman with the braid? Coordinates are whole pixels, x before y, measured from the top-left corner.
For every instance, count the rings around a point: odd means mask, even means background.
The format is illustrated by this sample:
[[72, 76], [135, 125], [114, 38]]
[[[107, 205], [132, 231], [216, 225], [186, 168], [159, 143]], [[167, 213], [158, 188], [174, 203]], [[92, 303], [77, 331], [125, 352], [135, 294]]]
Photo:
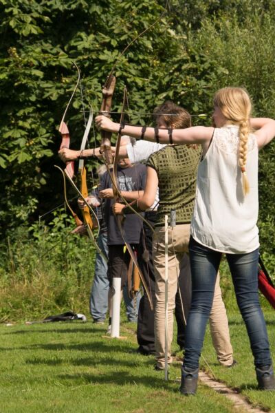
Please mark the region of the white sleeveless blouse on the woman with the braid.
[[243, 195], [239, 167], [239, 127], [214, 129], [197, 175], [192, 237], [215, 251], [250, 253], [259, 248], [258, 145], [248, 138], [246, 173], [250, 192]]

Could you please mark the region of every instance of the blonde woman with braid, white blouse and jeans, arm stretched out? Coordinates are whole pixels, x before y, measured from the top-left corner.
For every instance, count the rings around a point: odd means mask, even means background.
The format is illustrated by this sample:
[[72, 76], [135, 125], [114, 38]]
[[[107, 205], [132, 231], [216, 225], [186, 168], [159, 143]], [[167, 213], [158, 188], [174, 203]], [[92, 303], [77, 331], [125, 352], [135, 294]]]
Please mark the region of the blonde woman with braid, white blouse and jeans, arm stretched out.
[[[225, 87], [214, 96], [215, 127], [156, 131], [144, 139], [160, 143], [201, 144], [195, 209], [189, 244], [192, 304], [186, 328], [182, 394], [197, 390], [199, 357], [212, 305], [214, 283], [225, 253], [236, 300], [245, 321], [261, 390], [275, 390], [265, 320], [259, 304], [258, 152], [275, 136], [275, 120], [250, 118], [248, 93]], [[98, 127], [118, 131], [120, 125], [98, 116]], [[254, 130], [254, 132], [253, 132]], [[142, 127], [126, 125], [123, 133], [139, 138]]]

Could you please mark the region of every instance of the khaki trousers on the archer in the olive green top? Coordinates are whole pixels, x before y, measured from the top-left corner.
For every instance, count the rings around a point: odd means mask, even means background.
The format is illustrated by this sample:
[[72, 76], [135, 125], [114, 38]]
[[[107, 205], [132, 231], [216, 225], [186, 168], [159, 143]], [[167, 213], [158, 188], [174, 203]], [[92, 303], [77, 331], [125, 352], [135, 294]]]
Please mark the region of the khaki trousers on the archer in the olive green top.
[[[165, 244], [164, 226], [157, 227], [153, 236], [153, 260], [155, 268], [155, 350], [159, 368], [164, 368], [165, 352]], [[191, 272], [188, 257], [190, 224], [179, 224], [173, 229], [168, 227], [168, 363], [172, 362], [171, 343], [173, 340], [173, 322], [175, 295], [178, 277], [184, 277], [184, 289], [181, 299], [184, 318], [187, 320], [191, 301]], [[180, 275], [179, 275], [180, 273]], [[228, 317], [221, 297], [219, 273], [217, 275], [212, 310], [210, 313], [210, 331], [212, 343], [217, 352], [219, 363], [230, 366], [233, 362], [233, 350], [230, 343]]]

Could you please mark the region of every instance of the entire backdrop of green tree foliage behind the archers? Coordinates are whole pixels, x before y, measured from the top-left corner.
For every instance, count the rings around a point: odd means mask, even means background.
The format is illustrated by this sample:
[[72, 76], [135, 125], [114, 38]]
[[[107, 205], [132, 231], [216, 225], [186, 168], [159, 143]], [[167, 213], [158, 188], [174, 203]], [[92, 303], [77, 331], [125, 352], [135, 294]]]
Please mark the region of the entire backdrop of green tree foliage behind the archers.
[[[159, 17], [165, 3], [0, 0], [2, 235], [32, 222], [63, 197], [54, 164], [60, 165], [58, 125], [77, 79], [73, 62], [82, 81], [67, 123], [72, 147], [78, 149], [83, 109], [99, 109], [102, 85], [120, 52]], [[170, 0], [164, 17], [118, 61], [113, 111], [119, 112], [126, 85], [134, 112], [150, 113], [170, 99], [192, 114], [208, 114], [209, 124], [214, 91], [243, 85], [254, 100], [254, 114], [274, 117], [274, 14], [272, 0]], [[150, 116], [131, 118], [152, 121]], [[90, 145], [97, 138], [92, 136]], [[266, 245], [267, 228], [272, 234], [274, 224], [273, 159], [272, 144], [261, 155], [260, 169]], [[267, 249], [272, 251], [270, 245]]]

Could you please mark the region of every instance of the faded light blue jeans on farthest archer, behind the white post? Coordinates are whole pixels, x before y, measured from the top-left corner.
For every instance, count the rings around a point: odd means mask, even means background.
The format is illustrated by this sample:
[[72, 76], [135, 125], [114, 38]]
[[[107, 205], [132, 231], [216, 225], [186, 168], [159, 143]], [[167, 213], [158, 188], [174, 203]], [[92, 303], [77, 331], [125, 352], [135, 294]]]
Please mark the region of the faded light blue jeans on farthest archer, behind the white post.
[[[107, 233], [100, 233], [98, 236], [98, 246], [108, 257]], [[108, 310], [109, 279], [107, 277], [108, 265], [100, 253], [96, 253], [96, 263], [94, 272], [94, 282], [91, 287], [90, 313], [94, 321], [104, 321]], [[126, 315], [129, 321], [137, 321], [138, 307], [141, 293], [137, 293], [135, 302], [127, 292], [127, 285], [123, 288], [123, 297], [126, 306]]]

